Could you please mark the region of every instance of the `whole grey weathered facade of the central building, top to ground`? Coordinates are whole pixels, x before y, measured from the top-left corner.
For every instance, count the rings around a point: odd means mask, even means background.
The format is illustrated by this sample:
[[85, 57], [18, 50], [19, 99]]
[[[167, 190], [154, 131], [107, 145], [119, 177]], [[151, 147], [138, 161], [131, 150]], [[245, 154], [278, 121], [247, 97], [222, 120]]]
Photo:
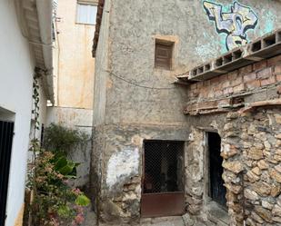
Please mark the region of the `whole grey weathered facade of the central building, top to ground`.
[[[215, 2], [215, 1], [212, 1]], [[224, 12], [232, 1], [219, 1]], [[278, 10], [281, 4], [266, 0], [241, 1], [258, 17], [255, 29], [246, 32], [252, 40], [281, 25]], [[274, 5], [274, 6], [273, 6]], [[266, 12], [270, 12], [266, 16]], [[268, 26], [268, 25], [271, 26]], [[98, 217], [101, 221], [137, 223], [140, 217], [139, 189], [141, 156], [144, 139], [187, 141], [191, 125], [218, 124], [224, 115], [187, 118], [183, 109], [188, 100], [186, 88], [173, 84], [175, 75], [186, 73], [193, 66], [226, 53], [226, 34], [218, 34], [209, 20], [203, 1], [105, 1], [104, 15], [95, 62], [95, 141], [91, 180], [95, 192]], [[175, 41], [173, 70], [155, 68], [156, 38]], [[222, 128], [222, 125], [220, 125]], [[135, 142], [135, 139], [138, 142]], [[198, 135], [196, 141], [202, 138]], [[192, 143], [192, 142], [191, 142]], [[202, 144], [202, 143], [201, 143]], [[193, 143], [193, 145], [201, 145]], [[191, 144], [192, 145], [192, 144]], [[138, 150], [139, 154], [136, 154]], [[199, 151], [199, 152], [196, 152]], [[186, 149], [186, 203], [203, 206], [203, 149]], [[132, 154], [135, 162], [126, 162]], [[138, 159], [138, 161], [136, 161]], [[112, 163], [125, 161], [128, 167], [108, 176]], [[197, 162], [197, 164], [196, 164]], [[109, 168], [108, 168], [109, 167]], [[138, 173], [135, 169], [138, 167]], [[119, 171], [120, 170], [120, 171]], [[197, 174], [193, 175], [194, 172]], [[201, 173], [201, 174], [200, 174]], [[116, 177], [118, 183], [114, 184]], [[194, 198], [194, 199], [193, 199]], [[199, 200], [199, 202], [197, 202]], [[200, 207], [200, 208], [201, 208]], [[200, 209], [199, 208], [199, 209]], [[190, 210], [192, 211], [192, 210]]]

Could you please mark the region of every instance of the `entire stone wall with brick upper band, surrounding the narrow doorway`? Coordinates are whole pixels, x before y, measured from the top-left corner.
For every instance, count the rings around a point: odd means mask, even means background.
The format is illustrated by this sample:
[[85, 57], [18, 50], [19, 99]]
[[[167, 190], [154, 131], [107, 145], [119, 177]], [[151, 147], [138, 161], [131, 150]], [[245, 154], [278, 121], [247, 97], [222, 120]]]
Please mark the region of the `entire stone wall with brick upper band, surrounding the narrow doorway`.
[[191, 219], [210, 221], [204, 133], [211, 128], [222, 138], [230, 225], [281, 223], [280, 67], [279, 55], [188, 87], [185, 113], [192, 115], [187, 120], [193, 129], [186, 155], [186, 203]]

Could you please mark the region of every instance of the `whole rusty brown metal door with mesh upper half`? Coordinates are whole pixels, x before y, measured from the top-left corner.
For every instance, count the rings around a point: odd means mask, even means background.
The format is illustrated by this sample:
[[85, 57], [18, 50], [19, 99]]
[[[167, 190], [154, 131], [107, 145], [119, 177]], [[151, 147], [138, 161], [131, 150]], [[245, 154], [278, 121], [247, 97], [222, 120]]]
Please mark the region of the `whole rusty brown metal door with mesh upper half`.
[[185, 212], [184, 143], [145, 141], [141, 215], [163, 217]]

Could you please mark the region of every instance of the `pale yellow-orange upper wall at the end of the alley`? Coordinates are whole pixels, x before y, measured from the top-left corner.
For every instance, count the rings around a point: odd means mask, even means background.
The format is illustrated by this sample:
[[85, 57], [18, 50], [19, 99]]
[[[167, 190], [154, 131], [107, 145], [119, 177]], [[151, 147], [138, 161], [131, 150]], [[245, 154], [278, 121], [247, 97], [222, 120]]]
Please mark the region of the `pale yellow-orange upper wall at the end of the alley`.
[[57, 98], [61, 107], [93, 108], [95, 25], [75, 24], [76, 0], [58, 0]]

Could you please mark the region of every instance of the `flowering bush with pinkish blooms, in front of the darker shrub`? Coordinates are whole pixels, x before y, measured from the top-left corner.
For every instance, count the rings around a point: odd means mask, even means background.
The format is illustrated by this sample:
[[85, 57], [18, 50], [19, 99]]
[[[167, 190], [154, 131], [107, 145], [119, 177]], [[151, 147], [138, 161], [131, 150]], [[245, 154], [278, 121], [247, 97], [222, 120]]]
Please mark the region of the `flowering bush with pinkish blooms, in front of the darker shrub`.
[[[67, 165], [70, 166], [67, 166]], [[55, 160], [53, 152], [41, 152], [35, 160], [33, 201], [34, 225], [78, 225], [84, 221], [83, 207], [90, 201], [79, 189], [71, 189], [67, 180], [74, 175], [74, 162]]]

